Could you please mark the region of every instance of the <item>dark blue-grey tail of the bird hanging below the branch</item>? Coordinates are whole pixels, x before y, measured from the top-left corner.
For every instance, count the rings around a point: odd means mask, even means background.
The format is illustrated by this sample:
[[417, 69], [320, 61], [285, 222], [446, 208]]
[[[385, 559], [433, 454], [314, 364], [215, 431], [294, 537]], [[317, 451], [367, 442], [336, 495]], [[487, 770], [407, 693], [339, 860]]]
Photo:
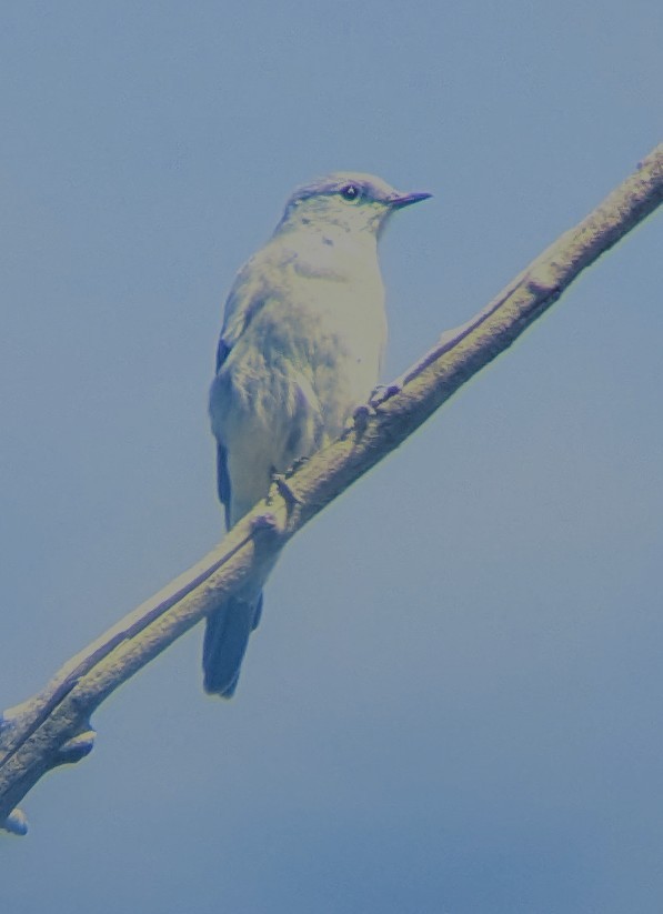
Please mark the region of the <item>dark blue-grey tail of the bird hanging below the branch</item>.
[[231, 699], [249, 636], [260, 622], [262, 593], [252, 600], [232, 596], [208, 616], [202, 646], [204, 691]]

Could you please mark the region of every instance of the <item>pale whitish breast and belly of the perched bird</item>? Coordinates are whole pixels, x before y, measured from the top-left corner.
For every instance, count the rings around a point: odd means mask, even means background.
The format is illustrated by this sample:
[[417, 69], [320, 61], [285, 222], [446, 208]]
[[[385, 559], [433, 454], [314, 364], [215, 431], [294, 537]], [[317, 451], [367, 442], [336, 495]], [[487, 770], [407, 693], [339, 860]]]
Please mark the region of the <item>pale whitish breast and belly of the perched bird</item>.
[[[329, 245], [327, 245], [329, 247]], [[360, 252], [361, 253], [361, 252]], [[212, 386], [214, 434], [237, 481], [251, 461], [283, 471], [338, 436], [375, 386], [386, 341], [376, 255], [267, 251], [260, 305]], [[268, 460], [269, 458], [269, 460]], [[251, 491], [251, 495], [255, 493]], [[248, 496], [247, 496], [248, 500]]]

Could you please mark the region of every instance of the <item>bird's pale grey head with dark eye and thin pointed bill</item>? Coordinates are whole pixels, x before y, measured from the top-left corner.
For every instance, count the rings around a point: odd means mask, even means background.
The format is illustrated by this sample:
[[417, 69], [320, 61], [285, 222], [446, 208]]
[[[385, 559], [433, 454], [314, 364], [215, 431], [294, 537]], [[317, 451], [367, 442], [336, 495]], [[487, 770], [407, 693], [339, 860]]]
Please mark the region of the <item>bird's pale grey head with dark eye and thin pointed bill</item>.
[[378, 237], [395, 210], [431, 195], [401, 193], [373, 174], [335, 171], [294, 191], [277, 231], [336, 227], [336, 231]]

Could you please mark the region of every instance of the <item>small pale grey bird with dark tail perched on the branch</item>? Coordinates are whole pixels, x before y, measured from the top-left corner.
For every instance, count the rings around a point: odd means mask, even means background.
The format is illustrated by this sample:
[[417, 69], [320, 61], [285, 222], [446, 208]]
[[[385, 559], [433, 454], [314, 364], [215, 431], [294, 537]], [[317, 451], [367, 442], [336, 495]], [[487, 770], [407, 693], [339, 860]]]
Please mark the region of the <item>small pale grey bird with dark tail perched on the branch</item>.
[[[209, 396], [227, 529], [369, 400], [386, 344], [378, 241], [394, 212], [431, 195], [362, 172], [325, 174], [294, 190], [271, 239], [240, 269]], [[233, 695], [263, 583], [208, 615], [207, 693]]]

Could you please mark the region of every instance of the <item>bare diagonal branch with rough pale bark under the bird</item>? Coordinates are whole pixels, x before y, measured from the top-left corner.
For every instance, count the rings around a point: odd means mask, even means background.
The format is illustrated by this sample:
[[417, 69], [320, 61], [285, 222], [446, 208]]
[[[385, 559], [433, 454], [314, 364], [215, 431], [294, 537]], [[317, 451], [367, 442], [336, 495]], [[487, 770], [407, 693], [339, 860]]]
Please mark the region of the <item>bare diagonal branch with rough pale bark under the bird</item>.
[[27, 831], [16, 808], [49, 770], [93, 746], [101, 702], [211, 612], [330, 501], [546, 311], [577, 277], [663, 202], [663, 144], [580, 224], [548, 248], [471, 321], [360, 408], [345, 433], [283, 478], [197, 565], [70, 660], [37, 695], [0, 717], [0, 827]]

